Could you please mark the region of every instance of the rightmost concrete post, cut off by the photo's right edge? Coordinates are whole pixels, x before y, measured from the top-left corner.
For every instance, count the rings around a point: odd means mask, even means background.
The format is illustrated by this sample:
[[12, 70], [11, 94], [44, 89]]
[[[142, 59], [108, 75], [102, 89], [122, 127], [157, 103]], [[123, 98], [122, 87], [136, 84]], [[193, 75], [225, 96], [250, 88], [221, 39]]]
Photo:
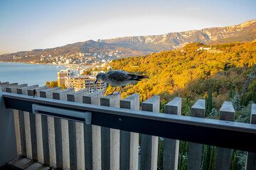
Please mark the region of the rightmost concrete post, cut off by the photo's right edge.
[[[256, 104], [255, 103], [252, 104], [250, 123], [256, 124]], [[256, 153], [247, 152], [245, 169], [246, 170], [256, 169]]]

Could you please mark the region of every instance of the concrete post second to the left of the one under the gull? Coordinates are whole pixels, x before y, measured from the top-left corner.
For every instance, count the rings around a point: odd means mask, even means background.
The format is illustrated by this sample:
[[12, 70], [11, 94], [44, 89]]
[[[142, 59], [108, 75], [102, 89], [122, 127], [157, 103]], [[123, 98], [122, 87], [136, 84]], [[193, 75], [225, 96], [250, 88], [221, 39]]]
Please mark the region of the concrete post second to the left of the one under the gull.
[[[73, 94], [68, 94], [67, 100], [82, 103], [82, 96], [86, 94], [89, 94], [89, 91], [87, 91], [87, 89], [78, 91]], [[85, 142], [84, 142], [83, 123], [69, 121], [68, 128], [69, 128], [69, 132], [68, 132], [69, 137], [76, 139], [75, 141], [70, 140], [69, 145], [70, 145], [70, 152], [73, 152], [74, 150], [76, 151], [77, 169], [85, 169]], [[73, 131], [71, 131], [71, 129]], [[71, 159], [70, 159], [70, 162], [71, 162]], [[71, 163], [70, 163], [70, 166], [71, 166]]]

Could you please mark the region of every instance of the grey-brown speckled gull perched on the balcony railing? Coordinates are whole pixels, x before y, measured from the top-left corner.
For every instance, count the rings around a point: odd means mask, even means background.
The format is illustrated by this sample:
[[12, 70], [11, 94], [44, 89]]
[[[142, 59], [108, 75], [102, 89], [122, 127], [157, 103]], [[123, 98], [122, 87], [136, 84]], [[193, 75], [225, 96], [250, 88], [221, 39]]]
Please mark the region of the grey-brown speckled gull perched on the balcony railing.
[[[149, 77], [147, 76], [138, 76], [136, 74], [130, 74], [127, 72], [124, 72], [122, 70], [110, 70], [107, 73], [99, 73], [96, 76], [96, 81], [95, 84], [99, 79], [102, 81], [111, 84], [111, 86], [114, 86], [114, 91], [117, 90], [117, 86], [121, 86], [120, 90], [118, 91], [117, 94], [120, 93], [122, 86], [126, 86], [127, 84], [132, 83], [132, 81], [141, 81], [142, 79], [148, 79]], [[114, 94], [114, 91], [111, 94], [107, 95], [112, 95]]]

